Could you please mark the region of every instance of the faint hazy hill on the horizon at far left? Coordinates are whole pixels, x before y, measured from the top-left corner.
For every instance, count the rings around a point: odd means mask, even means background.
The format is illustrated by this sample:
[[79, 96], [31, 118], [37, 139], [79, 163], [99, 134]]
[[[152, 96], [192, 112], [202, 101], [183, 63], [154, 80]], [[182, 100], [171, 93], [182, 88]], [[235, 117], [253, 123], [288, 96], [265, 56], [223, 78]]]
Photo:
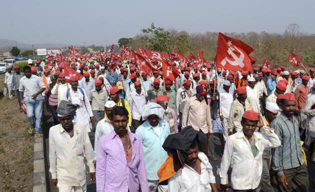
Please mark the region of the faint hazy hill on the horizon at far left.
[[[12, 46], [15, 46], [15, 45], [17, 45], [17, 47], [21, 51], [32, 48], [31, 44], [21, 43], [21, 42], [15, 41], [15, 40], [0, 39], [0, 51], [1, 52], [4, 52], [7, 49], [12, 48]], [[66, 46], [69, 46], [69, 44], [38, 43], [38, 44], [34, 44], [34, 49], [37, 49], [37, 48], [54, 49], [54, 48], [62, 48], [62, 47], [66, 47]]]

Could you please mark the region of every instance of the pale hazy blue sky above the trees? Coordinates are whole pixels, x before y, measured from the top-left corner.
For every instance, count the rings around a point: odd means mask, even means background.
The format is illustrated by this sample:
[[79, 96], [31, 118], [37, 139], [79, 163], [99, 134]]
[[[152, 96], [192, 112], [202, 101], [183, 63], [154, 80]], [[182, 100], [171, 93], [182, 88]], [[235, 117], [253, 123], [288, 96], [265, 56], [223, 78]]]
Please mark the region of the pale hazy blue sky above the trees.
[[155, 26], [188, 32], [315, 33], [314, 0], [1, 0], [0, 38], [102, 45]]

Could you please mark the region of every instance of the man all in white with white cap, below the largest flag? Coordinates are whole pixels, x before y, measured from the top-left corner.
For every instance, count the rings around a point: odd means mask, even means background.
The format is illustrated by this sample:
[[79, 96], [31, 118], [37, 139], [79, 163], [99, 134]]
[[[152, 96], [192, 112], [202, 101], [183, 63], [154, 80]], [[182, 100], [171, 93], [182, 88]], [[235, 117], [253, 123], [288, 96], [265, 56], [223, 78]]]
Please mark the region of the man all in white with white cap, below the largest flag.
[[226, 141], [228, 135], [232, 135], [232, 132], [228, 131], [228, 117], [229, 111], [231, 109], [231, 104], [233, 102], [233, 95], [229, 93], [230, 82], [225, 80], [223, 82], [223, 91], [219, 92], [219, 112], [220, 112], [220, 120], [222, 122], [223, 127], [223, 138]]

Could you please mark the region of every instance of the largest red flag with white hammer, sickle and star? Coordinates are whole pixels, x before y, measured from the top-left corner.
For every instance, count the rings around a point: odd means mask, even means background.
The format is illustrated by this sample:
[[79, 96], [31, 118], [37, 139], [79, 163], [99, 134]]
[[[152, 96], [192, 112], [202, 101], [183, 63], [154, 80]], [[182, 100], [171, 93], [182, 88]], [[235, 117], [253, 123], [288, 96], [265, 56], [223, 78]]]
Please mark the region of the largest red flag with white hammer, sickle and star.
[[232, 71], [252, 71], [251, 60], [248, 56], [253, 51], [244, 42], [230, 38], [219, 32], [215, 64], [217, 67]]

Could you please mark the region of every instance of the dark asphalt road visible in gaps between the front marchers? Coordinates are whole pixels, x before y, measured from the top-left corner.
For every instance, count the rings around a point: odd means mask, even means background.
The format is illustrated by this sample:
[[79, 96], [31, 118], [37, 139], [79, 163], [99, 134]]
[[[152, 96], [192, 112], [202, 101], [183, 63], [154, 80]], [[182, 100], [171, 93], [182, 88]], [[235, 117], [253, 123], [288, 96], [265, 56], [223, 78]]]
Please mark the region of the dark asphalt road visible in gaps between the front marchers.
[[[45, 115], [44, 115], [44, 137], [45, 137], [45, 141], [46, 141], [46, 157], [48, 157], [48, 131], [49, 131], [49, 127], [52, 126], [52, 117], [50, 114], [47, 114], [46, 111], [44, 111]], [[91, 141], [91, 144], [92, 146], [94, 147], [94, 133], [91, 132], [89, 134], [89, 138], [90, 138], [90, 141]], [[217, 136], [214, 136], [214, 151], [216, 153], [216, 158], [218, 159], [217, 161], [212, 161], [212, 160], [209, 160], [210, 161], [210, 164], [213, 168], [213, 174], [215, 176], [215, 182], [216, 182], [216, 186], [217, 188], [219, 189], [219, 178], [218, 176], [216, 175], [216, 166], [220, 165], [220, 162], [221, 162], [221, 157], [222, 157], [222, 152], [221, 152], [221, 144], [220, 144], [220, 140]], [[307, 153], [307, 151], [305, 151], [305, 153]], [[49, 160], [47, 159], [47, 165], [49, 165]], [[88, 169], [87, 169], [88, 170]], [[312, 181], [315, 180], [315, 164], [312, 164], [312, 163], [309, 163], [308, 164], [308, 175], [309, 175], [309, 189], [310, 189], [310, 192], [314, 192], [313, 191], [313, 186], [312, 186]], [[91, 184], [89, 182], [89, 175], [87, 174], [86, 175], [87, 177], [87, 192], [96, 192], [96, 185], [95, 183]], [[49, 174], [49, 180], [51, 179], [51, 176]], [[50, 181], [49, 181], [50, 183]], [[276, 190], [276, 185], [272, 185], [273, 186], [273, 189], [274, 189], [274, 192], [277, 192]], [[218, 190], [220, 192], [220, 190]], [[57, 192], [57, 190], [54, 190], [52, 189], [51, 185], [50, 185], [50, 192]], [[232, 190], [229, 190], [228, 192], [232, 192]]]

